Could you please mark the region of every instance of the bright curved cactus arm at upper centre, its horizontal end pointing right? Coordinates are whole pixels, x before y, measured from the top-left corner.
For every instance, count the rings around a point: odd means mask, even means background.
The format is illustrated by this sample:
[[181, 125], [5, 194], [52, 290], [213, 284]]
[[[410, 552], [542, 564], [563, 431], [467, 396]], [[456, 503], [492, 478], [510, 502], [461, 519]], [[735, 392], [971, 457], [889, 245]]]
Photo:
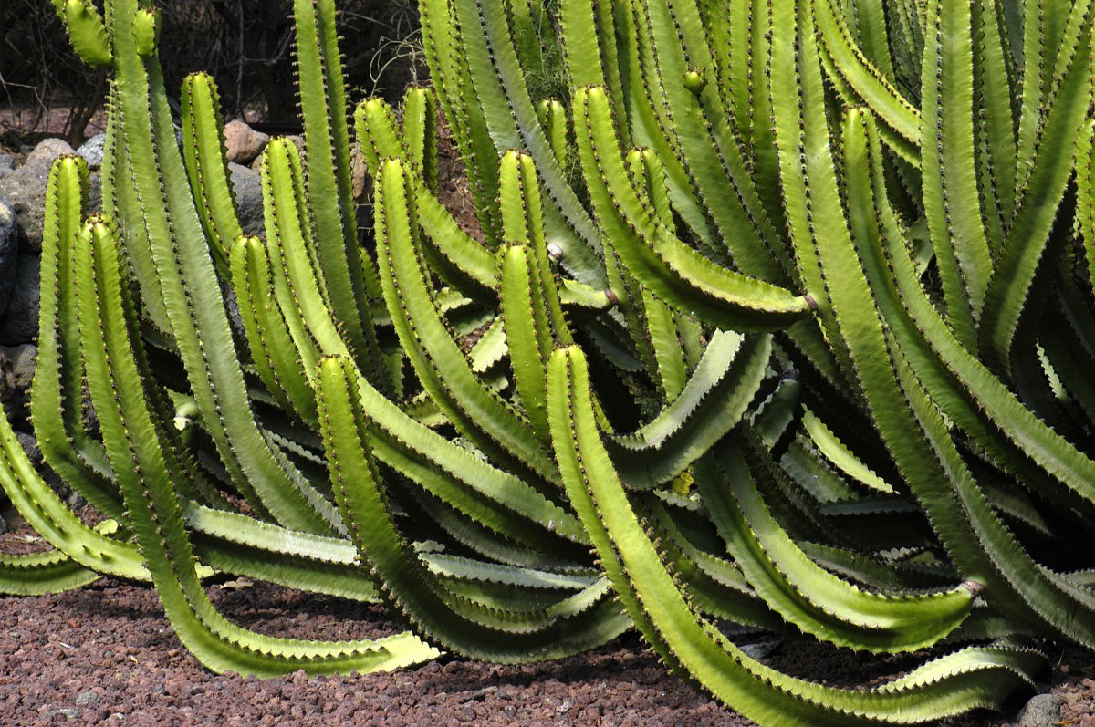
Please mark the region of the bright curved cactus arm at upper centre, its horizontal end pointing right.
[[650, 220], [624, 170], [602, 89], [579, 89], [574, 108], [598, 220], [643, 285], [673, 308], [728, 328], [780, 328], [806, 315], [806, 298], [716, 266]]

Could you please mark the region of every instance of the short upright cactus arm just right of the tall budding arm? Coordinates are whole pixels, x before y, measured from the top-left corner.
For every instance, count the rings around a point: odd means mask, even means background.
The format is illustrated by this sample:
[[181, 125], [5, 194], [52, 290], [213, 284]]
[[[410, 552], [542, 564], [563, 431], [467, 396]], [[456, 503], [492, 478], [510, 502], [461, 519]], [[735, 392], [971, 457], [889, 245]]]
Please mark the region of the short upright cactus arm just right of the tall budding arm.
[[182, 91], [183, 162], [194, 204], [221, 277], [228, 277], [228, 249], [243, 234], [235, 191], [228, 171], [220, 95], [208, 73], [192, 73]]

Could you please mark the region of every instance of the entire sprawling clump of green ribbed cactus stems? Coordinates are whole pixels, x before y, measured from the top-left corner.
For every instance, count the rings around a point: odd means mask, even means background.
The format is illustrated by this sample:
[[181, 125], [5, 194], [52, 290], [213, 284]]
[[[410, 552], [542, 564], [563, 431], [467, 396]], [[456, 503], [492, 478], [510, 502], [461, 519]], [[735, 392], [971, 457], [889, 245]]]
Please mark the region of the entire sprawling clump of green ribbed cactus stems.
[[[151, 582], [197, 659], [258, 676], [634, 627], [765, 725], [932, 723], [1047, 638], [1095, 647], [1092, 0], [423, 0], [434, 89], [399, 114], [349, 111], [334, 2], [296, 0], [304, 145], [264, 151], [264, 238], [206, 74], [177, 141], [154, 8], [54, 4], [112, 71], [106, 211], [60, 159], [32, 420], [101, 519], [0, 418], [54, 546], [0, 556], [3, 590]], [[481, 234], [438, 199], [438, 103]], [[221, 574], [408, 631], [260, 635]], [[727, 623], [935, 651], [838, 689]]]

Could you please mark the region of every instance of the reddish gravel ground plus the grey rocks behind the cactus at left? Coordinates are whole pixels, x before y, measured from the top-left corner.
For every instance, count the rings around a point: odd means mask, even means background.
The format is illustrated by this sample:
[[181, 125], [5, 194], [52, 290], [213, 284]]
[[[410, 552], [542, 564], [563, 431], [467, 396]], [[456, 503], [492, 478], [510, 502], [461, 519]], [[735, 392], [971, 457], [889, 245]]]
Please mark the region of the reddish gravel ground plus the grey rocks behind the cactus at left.
[[[265, 143], [245, 125], [227, 129], [232, 178], [244, 227], [262, 228], [254, 161]], [[102, 137], [76, 150], [97, 169]], [[24, 447], [36, 454], [26, 415], [34, 371], [42, 208], [49, 165], [73, 150], [47, 139], [33, 148], [0, 148], [0, 403]], [[462, 177], [443, 191], [458, 217]], [[357, 193], [362, 193], [358, 175]], [[97, 180], [92, 185], [99, 205]], [[0, 497], [2, 500], [2, 497]], [[11, 521], [11, 531], [4, 517]], [[0, 501], [0, 552], [42, 547]], [[368, 638], [400, 625], [380, 608], [302, 595], [261, 584], [210, 588], [214, 601], [241, 625], [311, 638]], [[834, 684], [897, 673], [912, 660], [838, 653], [807, 641], [752, 634], [744, 644], [780, 669]], [[1037, 695], [1004, 714], [973, 713], [949, 727], [1095, 727], [1095, 656], [1053, 648], [1052, 668]], [[561, 661], [498, 666], [445, 657], [397, 673], [309, 679], [303, 673], [260, 681], [217, 676], [189, 656], [168, 624], [155, 593], [103, 579], [68, 593], [0, 597], [0, 725], [748, 725], [747, 720], [670, 676], [627, 635]]]

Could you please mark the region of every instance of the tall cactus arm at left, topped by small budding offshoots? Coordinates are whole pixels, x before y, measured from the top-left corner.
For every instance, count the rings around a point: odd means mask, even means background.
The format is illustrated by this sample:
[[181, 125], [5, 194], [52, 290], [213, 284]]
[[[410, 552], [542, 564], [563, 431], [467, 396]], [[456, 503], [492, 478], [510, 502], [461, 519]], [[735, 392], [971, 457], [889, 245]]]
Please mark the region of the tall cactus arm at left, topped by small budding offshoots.
[[[116, 26], [125, 27], [128, 21], [124, 19], [135, 12], [134, 0], [116, 1]], [[160, 292], [203, 425], [232, 482], [252, 507], [260, 512], [273, 510], [286, 524], [331, 532], [335, 524], [320, 511], [331, 515], [333, 509], [272, 446], [254, 419], [228, 313], [175, 143], [162, 74], [157, 61], [146, 64], [135, 46], [129, 33], [116, 35], [115, 69], [125, 135], [120, 142], [130, 158]]]

